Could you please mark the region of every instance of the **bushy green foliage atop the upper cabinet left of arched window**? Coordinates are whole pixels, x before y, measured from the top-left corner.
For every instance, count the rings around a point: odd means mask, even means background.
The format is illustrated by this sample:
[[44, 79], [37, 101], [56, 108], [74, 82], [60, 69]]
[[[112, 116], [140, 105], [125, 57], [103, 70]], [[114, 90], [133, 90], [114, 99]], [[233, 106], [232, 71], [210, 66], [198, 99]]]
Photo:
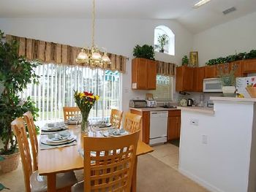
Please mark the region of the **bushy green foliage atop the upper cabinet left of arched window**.
[[136, 58], [148, 58], [154, 60], [154, 47], [151, 45], [136, 45], [133, 48], [133, 55]]

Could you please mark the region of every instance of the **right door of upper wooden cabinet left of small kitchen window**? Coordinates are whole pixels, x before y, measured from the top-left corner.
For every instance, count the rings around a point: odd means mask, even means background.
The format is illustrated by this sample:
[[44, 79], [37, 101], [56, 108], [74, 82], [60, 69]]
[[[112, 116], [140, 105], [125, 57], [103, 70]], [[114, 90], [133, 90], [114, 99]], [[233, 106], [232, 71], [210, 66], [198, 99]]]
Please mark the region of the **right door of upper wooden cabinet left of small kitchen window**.
[[156, 89], [157, 87], [157, 63], [156, 61], [147, 61], [148, 66], [148, 89]]

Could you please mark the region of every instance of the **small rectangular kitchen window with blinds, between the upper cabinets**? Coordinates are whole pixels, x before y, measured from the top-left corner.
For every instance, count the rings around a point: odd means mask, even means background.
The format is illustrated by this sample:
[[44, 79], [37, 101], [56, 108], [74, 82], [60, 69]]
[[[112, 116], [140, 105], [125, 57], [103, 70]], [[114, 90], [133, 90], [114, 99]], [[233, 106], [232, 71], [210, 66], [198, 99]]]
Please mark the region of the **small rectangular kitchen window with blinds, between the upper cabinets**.
[[157, 101], [171, 101], [173, 99], [173, 77], [157, 75], [157, 88], [151, 93]]

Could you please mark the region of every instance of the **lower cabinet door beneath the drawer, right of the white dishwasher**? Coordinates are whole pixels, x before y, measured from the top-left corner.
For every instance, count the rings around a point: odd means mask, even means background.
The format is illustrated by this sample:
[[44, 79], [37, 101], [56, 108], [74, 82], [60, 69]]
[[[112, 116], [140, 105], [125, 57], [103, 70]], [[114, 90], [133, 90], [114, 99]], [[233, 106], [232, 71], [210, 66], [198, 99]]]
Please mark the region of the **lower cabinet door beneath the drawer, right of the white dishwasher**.
[[178, 139], [180, 135], [180, 117], [168, 118], [168, 133], [167, 140]]

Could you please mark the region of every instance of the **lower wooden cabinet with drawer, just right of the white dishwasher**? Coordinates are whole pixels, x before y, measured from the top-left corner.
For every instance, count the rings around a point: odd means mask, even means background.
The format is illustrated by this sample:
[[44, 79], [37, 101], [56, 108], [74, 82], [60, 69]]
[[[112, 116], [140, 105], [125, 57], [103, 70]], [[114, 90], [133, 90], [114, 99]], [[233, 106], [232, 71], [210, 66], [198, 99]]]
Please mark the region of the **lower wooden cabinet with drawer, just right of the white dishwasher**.
[[167, 141], [178, 139], [181, 134], [181, 110], [170, 110], [168, 114]]

